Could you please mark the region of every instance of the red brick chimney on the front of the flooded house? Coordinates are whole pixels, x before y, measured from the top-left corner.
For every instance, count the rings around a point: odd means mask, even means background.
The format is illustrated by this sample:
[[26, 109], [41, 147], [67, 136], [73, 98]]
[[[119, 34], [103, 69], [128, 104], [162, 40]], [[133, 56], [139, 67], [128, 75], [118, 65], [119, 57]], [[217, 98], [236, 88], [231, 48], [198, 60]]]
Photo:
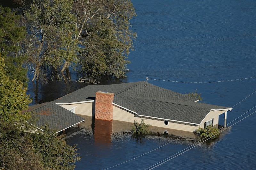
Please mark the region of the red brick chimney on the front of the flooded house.
[[113, 120], [113, 102], [114, 93], [96, 92], [95, 98], [95, 119], [106, 121]]

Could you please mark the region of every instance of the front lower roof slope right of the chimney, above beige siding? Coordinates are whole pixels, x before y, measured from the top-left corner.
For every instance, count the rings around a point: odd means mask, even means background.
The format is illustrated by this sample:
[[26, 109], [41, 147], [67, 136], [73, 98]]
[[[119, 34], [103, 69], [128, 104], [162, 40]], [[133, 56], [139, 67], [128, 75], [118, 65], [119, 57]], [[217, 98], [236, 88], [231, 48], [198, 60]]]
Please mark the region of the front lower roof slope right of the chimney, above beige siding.
[[200, 124], [211, 109], [228, 108], [191, 101], [145, 100], [123, 95], [115, 98], [115, 104], [128, 108], [138, 115], [196, 124]]

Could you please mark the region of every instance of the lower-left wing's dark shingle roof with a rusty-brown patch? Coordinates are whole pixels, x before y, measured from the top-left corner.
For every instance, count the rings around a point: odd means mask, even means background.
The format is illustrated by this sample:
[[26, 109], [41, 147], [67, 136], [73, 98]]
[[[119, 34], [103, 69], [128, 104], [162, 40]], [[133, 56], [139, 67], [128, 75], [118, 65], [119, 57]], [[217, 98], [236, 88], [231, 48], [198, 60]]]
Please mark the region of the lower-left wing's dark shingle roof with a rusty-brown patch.
[[84, 121], [83, 117], [68, 111], [54, 102], [30, 106], [28, 111], [33, 111], [35, 113], [34, 116], [39, 118], [36, 121], [36, 127], [40, 128], [47, 124], [49, 129], [55, 129], [57, 132]]

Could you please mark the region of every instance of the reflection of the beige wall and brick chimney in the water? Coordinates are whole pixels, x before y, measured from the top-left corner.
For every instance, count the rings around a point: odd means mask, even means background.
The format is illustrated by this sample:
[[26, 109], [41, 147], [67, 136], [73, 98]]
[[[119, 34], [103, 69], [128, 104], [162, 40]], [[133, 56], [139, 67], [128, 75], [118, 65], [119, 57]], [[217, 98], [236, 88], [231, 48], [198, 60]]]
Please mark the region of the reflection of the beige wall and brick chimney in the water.
[[[144, 140], [148, 139], [159, 139], [166, 141], [169, 143], [172, 141], [177, 144], [188, 144], [193, 145], [199, 142], [201, 138], [194, 134], [193, 132], [186, 132], [181, 130], [174, 129], [164, 129], [160, 127], [150, 126], [150, 131], [152, 132], [149, 135], [132, 135], [132, 122], [122, 122], [122, 121], [104, 121], [99, 119], [94, 119], [94, 117], [80, 115], [85, 118], [84, 122], [80, 123], [80, 126], [75, 126], [67, 129], [65, 133], [68, 138], [72, 138], [71, 136], [76, 135], [77, 133], [81, 133], [79, 136], [86, 137], [88, 132], [90, 132], [89, 136], [93, 139], [94, 144], [105, 145], [107, 147], [112, 146], [113, 143], [119, 140], [120, 137], [128, 137], [136, 142], [143, 143]], [[83, 130], [86, 129], [86, 130]], [[86, 133], [86, 134], [83, 134]], [[227, 131], [223, 131], [220, 134], [220, 137], [224, 137]], [[79, 139], [78, 139], [79, 140]], [[219, 138], [214, 140], [207, 140], [205, 143], [200, 145], [211, 145], [219, 141]]]

